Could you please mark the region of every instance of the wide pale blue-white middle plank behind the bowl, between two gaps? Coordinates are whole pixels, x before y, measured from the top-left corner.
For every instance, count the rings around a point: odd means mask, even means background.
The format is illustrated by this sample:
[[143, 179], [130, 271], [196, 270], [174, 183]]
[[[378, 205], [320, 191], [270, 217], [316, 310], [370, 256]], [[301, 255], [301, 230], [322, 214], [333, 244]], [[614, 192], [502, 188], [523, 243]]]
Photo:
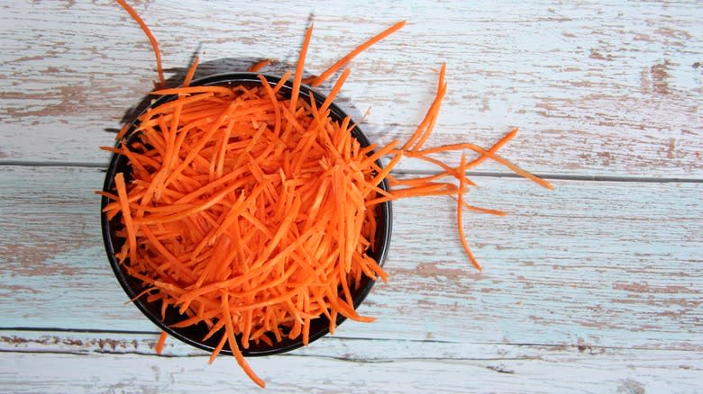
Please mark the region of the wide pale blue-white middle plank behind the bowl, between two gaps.
[[[3, 327], [152, 331], [117, 284], [99, 228], [95, 169], [0, 167]], [[399, 201], [387, 261], [361, 311], [339, 335], [507, 344], [644, 346], [703, 343], [700, 184], [480, 178], [467, 215], [466, 261], [453, 202]]]

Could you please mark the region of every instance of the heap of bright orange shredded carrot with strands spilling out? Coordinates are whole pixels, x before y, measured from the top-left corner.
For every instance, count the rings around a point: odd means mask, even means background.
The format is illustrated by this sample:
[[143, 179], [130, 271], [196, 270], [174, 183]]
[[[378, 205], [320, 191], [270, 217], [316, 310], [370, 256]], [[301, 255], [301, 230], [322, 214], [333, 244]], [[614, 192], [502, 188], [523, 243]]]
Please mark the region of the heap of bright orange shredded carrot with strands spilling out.
[[[330, 105], [350, 69], [343, 69], [324, 103], [301, 94], [303, 82], [321, 85], [363, 49], [400, 29], [398, 22], [363, 43], [324, 71], [303, 81], [307, 29], [295, 73], [278, 83], [259, 76], [260, 84], [190, 86], [197, 59], [183, 85], [167, 88], [159, 49], [134, 10], [118, 3], [139, 22], [157, 55], [160, 84], [152, 92], [174, 99], [151, 107], [125, 125], [115, 148], [128, 158], [131, 172], [114, 176], [114, 191], [100, 192], [109, 202], [107, 219], [120, 218], [122, 249], [115, 257], [146, 291], [138, 297], [160, 301], [162, 313], [179, 310], [173, 327], [205, 324], [204, 340], [219, 338], [210, 362], [225, 347], [253, 381], [264, 386], [244, 360], [241, 348], [273, 345], [284, 337], [307, 345], [311, 322], [338, 316], [369, 322], [354, 310], [352, 291], [362, 278], [386, 281], [370, 256], [377, 228], [375, 207], [399, 198], [449, 195], [457, 201], [457, 229], [470, 262], [461, 223], [464, 209], [503, 215], [470, 206], [464, 194], [474, 184], [467, 170], [486, 159], [551, 188], [503, 157], [498, 149], [516, 135], [512, 130], [491, 148], [462, 143], [425, 148], [446, 93], [445, 67], [434, 102], [407, 141], [362, 147], [352, 137], [347, 117], [334, 121]], [[262, 61], [252, 67], [266, 67]], [[282, 88], [291, 78], [290, 94]], [[433, 155], [472, 151], [477, 158], [450, 166]], [[440, 168], [436, 175], [397, 179], [390, 174], [402, 157]], [[388, 160], [379, 166], [378, 160]], [[379, 187], [387, 179], [390, 192]], [[448, 180], [447, 180], [448, 179]], [[119, 215], [119, 216], [118, 216]], [[240, 338], [239, 341], [237, 338]], [[163, 348], [160, 336], [157, 351]]]

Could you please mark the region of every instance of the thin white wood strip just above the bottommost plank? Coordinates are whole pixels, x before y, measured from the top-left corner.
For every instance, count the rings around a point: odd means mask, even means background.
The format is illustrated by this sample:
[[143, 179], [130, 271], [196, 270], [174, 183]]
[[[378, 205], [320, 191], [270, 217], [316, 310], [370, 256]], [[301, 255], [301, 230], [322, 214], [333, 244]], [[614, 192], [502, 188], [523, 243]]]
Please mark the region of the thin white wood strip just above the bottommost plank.
[[[143, 332], [85, 332], [0, 329], [0, 352], [5, 353], [66, 353], [66, 354], [141, 354], [156, 355], [154, 346], [159, 333]], [[699, 350], [699, 348], [697, 349]], [[633, 354], [634, 358], [652, 358], [660, 354], [691, 354], [691, 359], [703, 356], [700, 352], [642, 347], [608, 347], [587, 345], [540, 345], [480, 343], [467, 338], [462, 342], [443, 342], [434, 339], [406, 340], [324, 336], [312, 345], [284, 355], [327, 357], [348, 361], [383, 363], [390, 360], [527, 360], [537, 354], [542, 357], [559, 357], [577, 354]], [[635, 354], [640, 354], [636, 356]], [[696, 355], [698, 354], [698, 356]], [[162, 356], [191, 357], [210, 354], [178, 340], [169, 338]], [[226, 358], [227, 356], [224, 356]], [[694, 365], [682, 364], [681, 369]]]

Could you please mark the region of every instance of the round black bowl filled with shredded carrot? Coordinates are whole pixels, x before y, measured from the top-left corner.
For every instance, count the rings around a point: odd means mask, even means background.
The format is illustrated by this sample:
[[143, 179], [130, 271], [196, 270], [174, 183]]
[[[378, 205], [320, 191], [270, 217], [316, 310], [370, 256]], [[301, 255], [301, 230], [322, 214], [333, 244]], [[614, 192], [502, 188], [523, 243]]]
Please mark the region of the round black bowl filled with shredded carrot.
[[[220, 74], [197, 79], [196, 81], [193, 81], [191, 85], [261, 85], [260, 79], [257, 77], [258, 75], [259, 74], [257, 73]], [[266, 76], [266, 79], [268, 80], [270, 85], [276, 85], [280, 80], [280, 78], [276, 76]], [[284, 96], [289, 96], [291, 90], [292, 83], [288, 81], [285, 85], [283, 85], [280, 90], [280, 93]], [[311, 87], [307, 85], [301, 85], [300, 98], [309, 100], [311, 95], [314, 97], [315, 102], [318, 105], [324, 103], [324, 95], [315, 92]], [[169, 102], [171, 100], [174, 100], [175, 98], [176, 97], [173, 95], [160, 97], [159, 100], [156, 100], [154, 103], [151, 103], [150, 107], [157, 107], [160, 104]], [[333, 121], [341, 122], [346, 117], [346, 114], [342, 111], [342, 109], [340, 109], [334, 103], [330, 105], [330, 112], [330, 116], [332, 117]], [[132, 130], [134, 130], [135, 127], [136, 121], [132, 121]], [[130, 132], [132, 130], [130, 130]], [[364, 136], [359, 127], [355, 127], [352, 130], [352, 136], [359, 140], [361, 147], [367, 147], [370, 145], [369, 139]], [[129, 140], [135, 138], [135, 136], [128, 133], [125, 138]], [[379, 161], [377, 161], [376, 164], [379, 167], [382, 166]], [[131, 166], [129, 166], [129, 160], [127, 159], [127, 157], [124, 157], [122, 155], [114, 155], [112, 157], [112, 160], [110, 161], [110, 166], [107, 168], [107, 175], [105, 175], [105, 184], [103, 186], [103, 190], [105, 192], [115, 193], [114, 175], [117, 173], [123, 173], [125, 176], [125, 180], [129, 180], [130, 174], [132, 173], [132, 168]], [[383, 190], [388, 191], [387, 181], [384, 180], [383, 183], [380, 184], [380, 187]], [[103, 197], [101, 208], [104, 208], [108, 202], [110, 201], [107, 198]], [[373, 257], [373, 259], [376, 260], [378, 264], [383, 265], [386, 259], [386, 255], [388, 253], [388, 246], [390, 244], [390, 201], [378, 204], [376, 206], [376, 210], [378, 229], [375, 239], [375, 245], [373, 247], [373, 251], [370, 252], [370, 256]], [[113, 268], [114, 275], [117, 277], [117, 281], [120, 282], [124, 291], [127, 293], [127, 296], [130, 299], [133, 299], [139, 293], [144, 291], [145, 287], [141, 281], [134, 279], [132, 278], [132, 276], [125, 273], [121, 265], [117, 262], [114, 257], [115, 251], [119, 251], [124, 243], [124, 239], [121, 237], [117, 237], [116, 235], [116, 231], [122, 227], [122, 224], [120, 223], [120, 215], [116, 215], [112, 220], [108, 220], [105, 213], [101, 213], [101, 215], [103, 239], [105, 240], [105, 251], [107, 253], [107, 258]], [[374, 283], [374, 280], [371, 280], [365, 276], [362, 277], [361, 283], [357, 290], [352, 291], [355, 309], [359, 307], [359, 305], [361, 305], [361, 301], [363, 301], [364, 298], [366, 298], [367, 294], [369, 294], [369, 291], [373, 287]], [[151, 321], [154, 322], [154, 324], [156, 324], [161, 330], [169, 333], [170, 336], [174, 336], [189, 345], [196, 346], [206, 351], [213, 351], [215, 349], [219, 337], [213, 336], [207, 341], [202, 340], [202, 338], [208, 332], [208, 328], [205, 326], [204, 323], [185, 328], [172, 328], [170, 327], [171, 325], [183, 319], [183, 316], [178, 313], [178, 309], [169, 307], [169, 309], [167, 309], [166, 311], [165, 318], [161, 319], [160, 302], [147, 302], [145, 298], [142, 297], [140, 299], [134, 300], [133, 303], [137, 306], [137, 308], [142, 310], [142, 313], [147, 318], [150, 318]], [[340, 315], [339, 318], [337, 318], [336, 324], [340, 325], [342, 321], [344, 321], [344, 319], [345, 318]], [[309, 342], [315, 341], [316, 339], [324, 336], [328, 332], [329, 320], [324, 316], [316, 318], [312, 321], [310, 325]], [[239, 338], [237, 339], [239, 340]], [[298, 347], [301, 347], [303, 345], [302, 336], [299, 336], [297, 339], [289, 339], [288, 337], [284, 337], [281, 342], [276, 342], [273, 336], [270, 336], [270, 339], [272, 340], [273, 345], [266, 345], [262, 341], [260, 341], [259, 344], [250, 343], [249, 349], [242, 349], [242, 354], [246, 356], [280, 354], [297, 349]], [[232, 354], [231, 350], [227, 345], [224, 346], [222, 353]]]

